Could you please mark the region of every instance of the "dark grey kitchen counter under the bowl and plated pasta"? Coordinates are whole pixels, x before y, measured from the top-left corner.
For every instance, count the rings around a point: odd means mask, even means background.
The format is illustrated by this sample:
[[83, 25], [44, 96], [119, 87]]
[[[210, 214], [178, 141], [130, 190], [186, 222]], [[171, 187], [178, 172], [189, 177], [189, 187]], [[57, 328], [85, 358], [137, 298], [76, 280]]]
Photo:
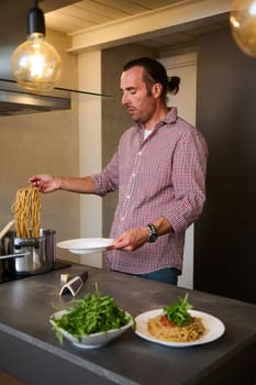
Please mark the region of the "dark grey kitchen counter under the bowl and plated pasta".
[[[59, 345], [49, 316], [70, 306], [59, 297], [60, 274], [88, 270], [77, 298], [94, 283], [133, 316], [162, 308], [189, 293], [193, 308], [225, 324], [216, 341], [169, 348], [141, 339], [132, 329], [100, 349]], [[0, 285], [0, 369], [27, 385], [256, 384], [256, 306], [125, 274], [73, 265]]]

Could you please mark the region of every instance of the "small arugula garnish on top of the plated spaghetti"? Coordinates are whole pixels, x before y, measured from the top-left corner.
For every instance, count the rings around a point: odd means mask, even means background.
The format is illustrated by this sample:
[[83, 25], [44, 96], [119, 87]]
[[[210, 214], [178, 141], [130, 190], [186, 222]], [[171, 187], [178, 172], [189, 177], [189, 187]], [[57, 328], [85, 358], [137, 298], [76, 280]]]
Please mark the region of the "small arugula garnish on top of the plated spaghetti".
[[180, 298], [180, 300], [177, 302], [172, 302], [171, 305], [164, 307], [167, 319], [178, 327], [182, 327], [192, 319], [188, 312], [189, 309], [192, 309], [192, 305], [190, 305], [187, 299], [188, 294], [186, 294], [186, 296]]

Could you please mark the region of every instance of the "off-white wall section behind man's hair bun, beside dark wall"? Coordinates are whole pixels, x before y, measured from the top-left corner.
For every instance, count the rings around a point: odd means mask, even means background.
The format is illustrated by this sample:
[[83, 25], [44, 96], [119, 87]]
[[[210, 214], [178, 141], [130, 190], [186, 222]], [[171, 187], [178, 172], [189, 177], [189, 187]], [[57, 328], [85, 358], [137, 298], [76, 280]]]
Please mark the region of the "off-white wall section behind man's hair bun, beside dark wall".
[[[178, 108], [180, 117], [196, 124], [197, 100], [197, 55], [189, 53], [159, 59], [166, 67], [168, 76], [180, 77], [180, 89], [169, 99], [169, 106]], [[193, 224], [186, 232], [183, 272], [178, 286], [193, 288]]]

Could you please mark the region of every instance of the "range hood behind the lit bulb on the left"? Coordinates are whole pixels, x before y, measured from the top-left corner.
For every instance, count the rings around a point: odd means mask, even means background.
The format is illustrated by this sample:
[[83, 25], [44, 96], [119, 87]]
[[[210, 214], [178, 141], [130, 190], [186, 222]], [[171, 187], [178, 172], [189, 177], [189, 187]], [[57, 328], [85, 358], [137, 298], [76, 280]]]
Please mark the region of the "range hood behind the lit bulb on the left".
[[69, 90], [53, 89], [47, 94], [34, 94], [20, 87], [13, 79], [11, 57], [18, 45], [26, 38], [26, 14], [32, 4], [32, 0], [19, 0], [15, 6], [10, 0], [1, 0], [0, 116], [70, 109]]

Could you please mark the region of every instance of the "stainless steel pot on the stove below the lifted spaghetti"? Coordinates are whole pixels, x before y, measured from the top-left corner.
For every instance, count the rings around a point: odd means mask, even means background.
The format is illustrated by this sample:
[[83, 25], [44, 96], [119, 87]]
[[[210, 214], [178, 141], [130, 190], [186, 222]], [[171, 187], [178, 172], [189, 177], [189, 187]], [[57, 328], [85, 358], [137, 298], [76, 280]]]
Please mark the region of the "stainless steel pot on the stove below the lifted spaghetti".
[[[40, 274], [51, 271], [56, 257], [55, 234], [55, 230], [41, 229], [38, 238], [16, 238], [14, 231], [9, 231], [3, 238], [3, 253], [7, 256], [13, 255], [8, 260], [9, 274]], [[21, 257], [21, 254], [25, 255]], [[8, 274], [7, 266], [4, 271]]]

